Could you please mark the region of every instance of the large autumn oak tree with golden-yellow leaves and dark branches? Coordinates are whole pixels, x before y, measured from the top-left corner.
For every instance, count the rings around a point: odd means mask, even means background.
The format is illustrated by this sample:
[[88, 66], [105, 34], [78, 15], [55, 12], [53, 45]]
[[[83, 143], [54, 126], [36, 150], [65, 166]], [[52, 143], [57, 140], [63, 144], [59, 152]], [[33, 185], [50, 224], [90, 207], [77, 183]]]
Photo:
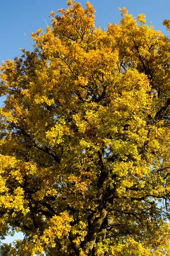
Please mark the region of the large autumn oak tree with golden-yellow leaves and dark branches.
[[68, 1], [2, 64], [0, 235], [25, 237], [1, 255], [170, 253], [170, 39], [94, 11]]

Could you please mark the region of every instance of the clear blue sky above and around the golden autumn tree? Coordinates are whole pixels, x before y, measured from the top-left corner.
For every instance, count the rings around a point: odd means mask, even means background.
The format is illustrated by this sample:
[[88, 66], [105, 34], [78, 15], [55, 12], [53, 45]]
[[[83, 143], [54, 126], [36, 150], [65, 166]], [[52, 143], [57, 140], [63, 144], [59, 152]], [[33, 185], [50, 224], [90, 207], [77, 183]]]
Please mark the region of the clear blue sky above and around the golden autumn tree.
[[[96, 25], [107, 28], [108, 23], [118, 23], [121, 15], [118, 7], [124, 6], [133, 16], [139, 13], [147, 15], [147, 22], [152, 21], [157, 30], [170, 35], [162, 25], [163, 20], [170, 19], [170, 0], [91, 0], [96, 9]], [[85, 7], [86, 0], [81, 0]], [[31, 32], [38, 28], [45, 29], [47, 21], [50, 24], [51, 11], [57, 12], [59, 8], [67, 8], [66, 0], [1, 0], [0, 2], [0, 63], [6, 59], [13, 59], [20, 56], [22, 49], [31, 50], [26, 40], [31, 40]], [[0, 102], [0, 105], [2, 102]], [[20, 236], [15, 236], [19, 239]], [[8, 237], [6, 241], [12, 241]]]

